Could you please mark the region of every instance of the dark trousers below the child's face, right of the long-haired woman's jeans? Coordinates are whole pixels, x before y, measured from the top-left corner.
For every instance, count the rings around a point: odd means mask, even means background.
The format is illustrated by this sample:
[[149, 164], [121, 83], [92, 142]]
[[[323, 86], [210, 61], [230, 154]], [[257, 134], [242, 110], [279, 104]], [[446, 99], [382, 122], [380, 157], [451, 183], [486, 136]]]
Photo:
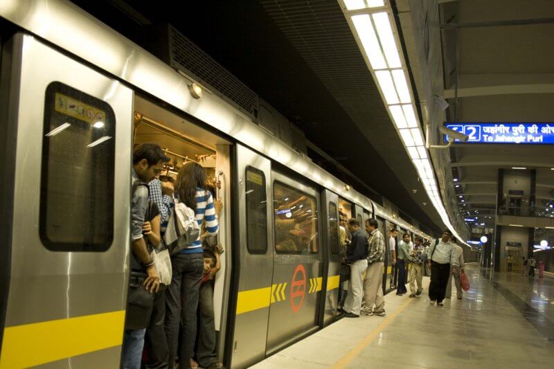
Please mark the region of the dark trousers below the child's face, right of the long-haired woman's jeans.
[[200, 298], [198, 307], [199, 332], [197, 340], [196, 357], [199, 366], [208, 368], [210, 364], [217, 363], [215, 352], [215, 323], [213, 314], [213, 281], [208, 280], [200, 286]]

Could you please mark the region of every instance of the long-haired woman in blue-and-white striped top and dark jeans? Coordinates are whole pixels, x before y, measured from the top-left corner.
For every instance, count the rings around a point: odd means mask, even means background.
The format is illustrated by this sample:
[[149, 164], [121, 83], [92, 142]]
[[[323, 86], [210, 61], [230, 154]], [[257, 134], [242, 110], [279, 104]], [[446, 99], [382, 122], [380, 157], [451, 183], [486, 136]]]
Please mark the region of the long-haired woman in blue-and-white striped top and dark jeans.
[[[208, 235], [215, 235], [219, 230], [213, 197], [204, 189], [206, 172], [202, 165], [194, 162], [183, 165], [177, 181], [175, 192], [179, 201], [189, 208], [195, 209], [196, 221], [199, 226], [206, 222]], [[186, 249], [171, 258], [173, 275], [171, 285], [166, 292], [166, 336], [169, 348], [169, 367], [177, 354], [179, 339], [179, 322], [183, 321], [181, 334], [181, 351], [179, 352], [179, 368], [189, 368], [193, 357], [197, 330], [198, 294], [204, 259], [202, 258], [202, 241], [200, 237]]]

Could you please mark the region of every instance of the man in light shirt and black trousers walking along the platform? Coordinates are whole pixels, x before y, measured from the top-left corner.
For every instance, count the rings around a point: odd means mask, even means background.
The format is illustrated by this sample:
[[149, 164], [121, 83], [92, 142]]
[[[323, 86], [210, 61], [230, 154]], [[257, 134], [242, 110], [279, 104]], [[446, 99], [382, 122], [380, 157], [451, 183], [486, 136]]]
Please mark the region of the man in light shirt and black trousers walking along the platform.
[[427, 263], [431, 264], [431, 284], [429, 285], [429, 300], [431, 305], [435, 302], [443, 306], [446, 295], [446, 285], [450, 276], [450, 265], [453, 264], [456, 253], [454, 245], [450, 243], [452, 232], [446, 230], [443, 237], [436, 240], [435, 244], [427, 251]]

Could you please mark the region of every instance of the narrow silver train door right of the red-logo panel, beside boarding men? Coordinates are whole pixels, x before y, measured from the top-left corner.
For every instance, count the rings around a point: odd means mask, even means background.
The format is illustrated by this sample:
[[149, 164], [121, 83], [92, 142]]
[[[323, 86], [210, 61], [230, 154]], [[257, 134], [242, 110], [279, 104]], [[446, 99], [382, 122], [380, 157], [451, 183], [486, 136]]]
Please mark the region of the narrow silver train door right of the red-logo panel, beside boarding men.
[[324, 325], [328, 325], [334, 320], [337, 313], [337, 304], [339, 298], [339, 280], [340, 280], [340, 245], [339, 245], [339, 197], [330, 190], [323, 191], [323, 235], [327, 240], [327, 282], [325, 293], [325, 312], [323, 316]]

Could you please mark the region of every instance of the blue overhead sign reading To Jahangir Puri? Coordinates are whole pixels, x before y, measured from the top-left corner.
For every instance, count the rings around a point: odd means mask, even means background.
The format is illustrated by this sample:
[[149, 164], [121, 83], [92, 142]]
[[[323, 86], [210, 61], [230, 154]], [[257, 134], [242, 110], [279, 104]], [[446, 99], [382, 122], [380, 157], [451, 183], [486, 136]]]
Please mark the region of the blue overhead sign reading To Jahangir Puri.
[[[554, 144], [554, 123], [446, 123], [467, 135], [467, 143]], [[445, 143], [447, 143], [445, 136]], [[460, 140], [454, 143], [460, 143]]]

